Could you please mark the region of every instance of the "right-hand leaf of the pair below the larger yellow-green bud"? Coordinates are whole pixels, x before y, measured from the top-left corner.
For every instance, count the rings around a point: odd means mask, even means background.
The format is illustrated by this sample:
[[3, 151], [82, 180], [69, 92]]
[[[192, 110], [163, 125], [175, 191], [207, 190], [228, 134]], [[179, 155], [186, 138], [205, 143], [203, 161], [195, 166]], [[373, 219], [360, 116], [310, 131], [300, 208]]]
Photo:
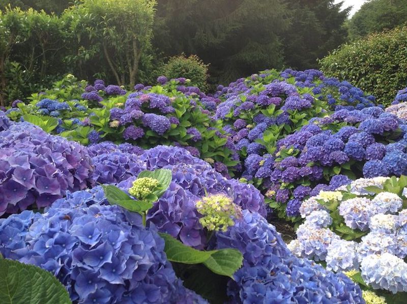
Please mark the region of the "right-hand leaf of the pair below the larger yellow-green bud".
[[213, 272], [221, 275], [227, 275], [233, 279], [233, 274], [242, 267], [242, 253], [236, 249], [226, 248], [214, 252], [211, 257], [203, 262], [205, 266]]

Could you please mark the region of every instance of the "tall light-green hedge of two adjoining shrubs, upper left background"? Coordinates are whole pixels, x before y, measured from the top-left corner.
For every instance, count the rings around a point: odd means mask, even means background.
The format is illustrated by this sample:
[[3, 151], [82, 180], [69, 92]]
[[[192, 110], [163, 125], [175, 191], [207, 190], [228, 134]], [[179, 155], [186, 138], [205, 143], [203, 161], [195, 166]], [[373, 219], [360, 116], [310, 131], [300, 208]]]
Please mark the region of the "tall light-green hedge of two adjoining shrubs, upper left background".
[[133, 87], [148, 80], [155, 0], [81, 0], [61, 16], [0, 10], [0, 104], [64, 74]]

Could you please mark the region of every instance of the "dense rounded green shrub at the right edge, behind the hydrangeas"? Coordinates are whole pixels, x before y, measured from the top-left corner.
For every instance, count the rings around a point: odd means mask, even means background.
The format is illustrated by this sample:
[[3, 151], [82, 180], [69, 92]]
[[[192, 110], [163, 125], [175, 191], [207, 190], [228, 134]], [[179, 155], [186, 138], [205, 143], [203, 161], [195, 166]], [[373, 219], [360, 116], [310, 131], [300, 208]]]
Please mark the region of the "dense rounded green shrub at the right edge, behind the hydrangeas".
[[326, 76], [347, 79], [389, 105], [407, 84], [407, 26], [344, 44], [319, 63]]

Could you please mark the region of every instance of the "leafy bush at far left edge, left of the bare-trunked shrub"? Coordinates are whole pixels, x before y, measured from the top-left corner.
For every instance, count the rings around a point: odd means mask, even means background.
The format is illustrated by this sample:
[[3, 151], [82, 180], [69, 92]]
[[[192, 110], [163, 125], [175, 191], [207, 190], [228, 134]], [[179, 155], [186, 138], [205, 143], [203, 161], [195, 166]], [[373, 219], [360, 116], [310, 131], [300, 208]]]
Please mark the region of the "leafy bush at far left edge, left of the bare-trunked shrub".
[[55, 16], [33, 9], [0, 11], [0, 40], [2, 105], [40, 90], [65, 69], [68, 31]]

